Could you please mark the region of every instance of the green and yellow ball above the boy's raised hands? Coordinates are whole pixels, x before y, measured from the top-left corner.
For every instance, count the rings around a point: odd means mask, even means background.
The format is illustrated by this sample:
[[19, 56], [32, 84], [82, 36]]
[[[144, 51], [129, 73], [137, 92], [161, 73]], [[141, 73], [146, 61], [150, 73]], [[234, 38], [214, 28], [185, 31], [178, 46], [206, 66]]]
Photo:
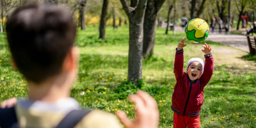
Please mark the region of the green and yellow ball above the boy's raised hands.
[[185, 26], [185, 35], [190, 42], [202, 42], [209, 35], [209, 25], [203, 19], [192, 19]]

